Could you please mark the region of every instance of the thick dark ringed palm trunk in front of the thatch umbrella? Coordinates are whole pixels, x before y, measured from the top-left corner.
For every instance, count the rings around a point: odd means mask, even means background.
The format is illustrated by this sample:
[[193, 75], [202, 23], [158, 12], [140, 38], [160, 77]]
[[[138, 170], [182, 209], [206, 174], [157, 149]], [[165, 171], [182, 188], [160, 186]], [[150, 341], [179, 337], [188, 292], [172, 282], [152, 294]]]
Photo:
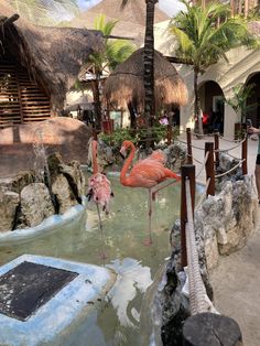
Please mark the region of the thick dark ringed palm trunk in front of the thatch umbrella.
[[[121, 7], [124, 8], [129, 1], [134, 0], [121, 0]], [[143, 0], [144, 1], [144, 0]], [[154, 11], [155, 3], [159, 0], [145, 0], [147, 2], [147, 22], [145, 22], [145, 36], [144, 36], [144, 52], [143, 52], [143, 83], [144, 83], [144, 121], [147, 127], [153, 125], [154, 119]]]

